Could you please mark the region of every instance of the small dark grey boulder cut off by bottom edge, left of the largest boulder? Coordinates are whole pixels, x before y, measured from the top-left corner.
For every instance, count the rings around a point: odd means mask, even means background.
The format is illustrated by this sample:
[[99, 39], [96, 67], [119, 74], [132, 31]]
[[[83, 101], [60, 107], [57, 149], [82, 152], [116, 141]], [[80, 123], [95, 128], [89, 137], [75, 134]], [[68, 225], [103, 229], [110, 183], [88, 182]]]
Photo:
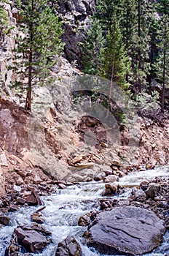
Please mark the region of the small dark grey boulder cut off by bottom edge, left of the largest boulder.
[[55, 256], [81, 256], [82, 249], [73, 236], [67, 236], [58, 244]]

